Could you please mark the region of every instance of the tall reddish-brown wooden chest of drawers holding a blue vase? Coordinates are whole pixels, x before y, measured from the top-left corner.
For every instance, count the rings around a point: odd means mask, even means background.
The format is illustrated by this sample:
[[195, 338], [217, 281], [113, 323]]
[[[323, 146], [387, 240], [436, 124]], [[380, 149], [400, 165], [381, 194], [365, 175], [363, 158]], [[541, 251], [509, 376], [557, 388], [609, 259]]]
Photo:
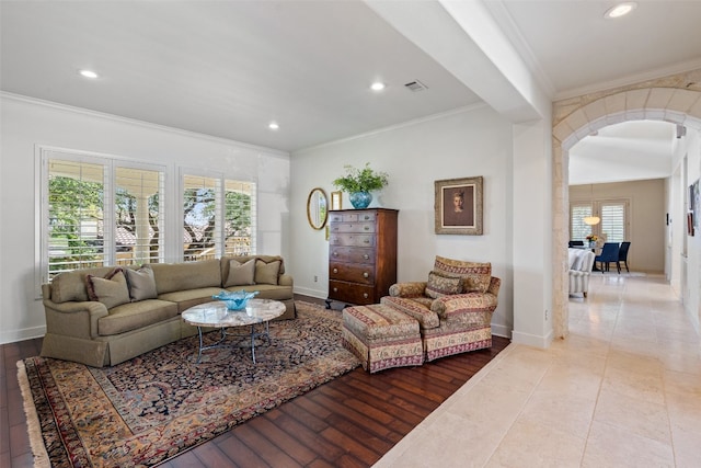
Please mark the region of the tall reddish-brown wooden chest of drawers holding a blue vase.
[[397, 283], [397, 218], [386, 208], [329, 212], [329, 298], [378, 304]]

